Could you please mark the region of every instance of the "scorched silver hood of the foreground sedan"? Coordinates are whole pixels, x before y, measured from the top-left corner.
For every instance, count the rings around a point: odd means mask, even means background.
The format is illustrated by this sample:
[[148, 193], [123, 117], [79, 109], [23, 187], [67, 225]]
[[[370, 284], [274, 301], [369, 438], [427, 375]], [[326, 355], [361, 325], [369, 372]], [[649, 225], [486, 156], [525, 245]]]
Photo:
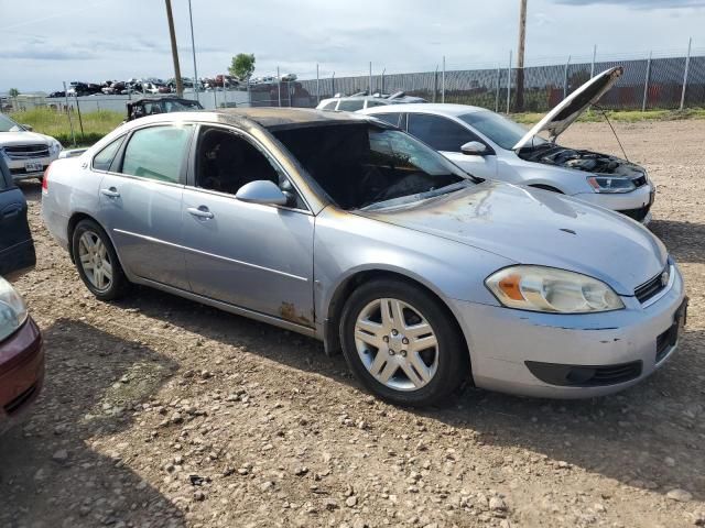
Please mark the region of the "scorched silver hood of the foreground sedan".
[[627, 296], [661, 273], [668, 257], [653, 234], [626, 217], [555, 193], [497, 182], [357, 215], [516, 263], [583, 273]]

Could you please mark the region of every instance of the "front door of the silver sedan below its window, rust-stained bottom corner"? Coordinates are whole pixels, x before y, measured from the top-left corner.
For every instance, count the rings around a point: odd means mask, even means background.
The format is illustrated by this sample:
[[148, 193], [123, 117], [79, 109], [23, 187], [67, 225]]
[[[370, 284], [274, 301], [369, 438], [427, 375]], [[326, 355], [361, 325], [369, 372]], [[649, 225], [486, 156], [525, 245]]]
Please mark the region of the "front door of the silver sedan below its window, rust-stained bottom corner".
[[312, 215], [187, 187], [182, 222], [195, 294], [313, 327]]

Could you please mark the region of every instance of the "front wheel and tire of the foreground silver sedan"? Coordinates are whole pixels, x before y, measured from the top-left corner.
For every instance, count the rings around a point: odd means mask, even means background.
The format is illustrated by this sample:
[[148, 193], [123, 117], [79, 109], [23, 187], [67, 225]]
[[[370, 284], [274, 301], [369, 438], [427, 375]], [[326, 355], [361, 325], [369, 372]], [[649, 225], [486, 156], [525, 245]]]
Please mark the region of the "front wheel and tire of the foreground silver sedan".
[[356, 289], [343, 309], [340, 342], [355, 376], [398, 405], [436, 404], [469, 374], [467, 346], [447, 308], [402, 280]]

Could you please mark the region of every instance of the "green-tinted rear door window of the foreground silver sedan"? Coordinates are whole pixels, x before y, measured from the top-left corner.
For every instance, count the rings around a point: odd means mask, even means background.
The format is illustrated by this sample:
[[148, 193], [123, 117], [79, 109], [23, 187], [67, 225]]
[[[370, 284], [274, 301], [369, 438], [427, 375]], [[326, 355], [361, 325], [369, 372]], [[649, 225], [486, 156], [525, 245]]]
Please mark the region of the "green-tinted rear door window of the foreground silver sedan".
[[150, 127], [135, 131], [124, 150], [120, 172], [158, 182], [184, 183], [182, 167], [192, 132], [192, 125]]

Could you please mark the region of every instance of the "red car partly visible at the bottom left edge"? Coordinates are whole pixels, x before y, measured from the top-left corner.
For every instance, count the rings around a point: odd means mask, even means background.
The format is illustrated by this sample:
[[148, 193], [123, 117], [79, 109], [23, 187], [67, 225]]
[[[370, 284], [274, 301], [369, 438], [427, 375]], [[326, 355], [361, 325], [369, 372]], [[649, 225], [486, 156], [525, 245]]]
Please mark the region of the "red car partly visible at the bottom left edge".
[[0, 277], [0, 435], [39, 396], [44, 382], [44, 346], [22, 297]]

